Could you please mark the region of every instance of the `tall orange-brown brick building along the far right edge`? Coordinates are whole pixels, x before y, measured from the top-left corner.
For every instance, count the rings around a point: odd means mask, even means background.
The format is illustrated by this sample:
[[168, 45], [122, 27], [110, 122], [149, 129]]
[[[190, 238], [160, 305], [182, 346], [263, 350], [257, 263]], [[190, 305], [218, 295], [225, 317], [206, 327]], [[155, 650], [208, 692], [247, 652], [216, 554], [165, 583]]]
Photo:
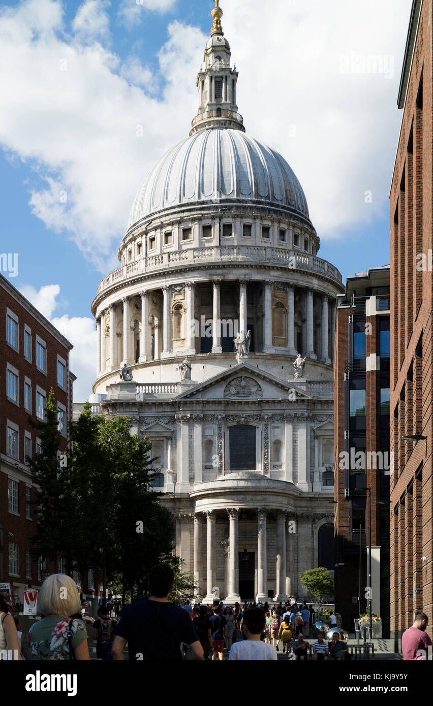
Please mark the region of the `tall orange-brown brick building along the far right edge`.
[[[391, 636], [432, 635], [432, 0], [414, 0], [391, 184]], [[415, 438], [408, 438], [413, 437]]]

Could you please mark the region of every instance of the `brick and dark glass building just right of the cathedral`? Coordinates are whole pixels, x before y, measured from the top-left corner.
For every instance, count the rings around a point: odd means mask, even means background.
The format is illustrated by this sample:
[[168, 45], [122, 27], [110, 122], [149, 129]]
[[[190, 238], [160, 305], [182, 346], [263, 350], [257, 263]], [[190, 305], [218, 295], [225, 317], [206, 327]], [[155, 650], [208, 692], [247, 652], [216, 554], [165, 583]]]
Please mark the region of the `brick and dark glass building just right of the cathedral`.
[[[367, 609], [389, 637], [389, 265], [348, 277], [337, 298], [334, 362], [336, 608]], [[343, 455], [344, 454], [344, 455]], [[371, 505], [372, 583], [367, 578]]]

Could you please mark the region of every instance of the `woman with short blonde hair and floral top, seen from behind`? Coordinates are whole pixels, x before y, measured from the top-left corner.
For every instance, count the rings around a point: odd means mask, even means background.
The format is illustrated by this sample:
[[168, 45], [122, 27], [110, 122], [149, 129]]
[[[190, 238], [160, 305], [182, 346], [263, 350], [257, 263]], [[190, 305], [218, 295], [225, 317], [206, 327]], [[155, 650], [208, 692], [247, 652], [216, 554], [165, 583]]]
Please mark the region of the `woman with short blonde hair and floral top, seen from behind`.
[[30, 659], [90, 660], [87, 630], [75, 617], [81, 612], [80, 594], [70, 576], [46, 578], [37, 596], [37, 609], [43, 617], [28, 632]]

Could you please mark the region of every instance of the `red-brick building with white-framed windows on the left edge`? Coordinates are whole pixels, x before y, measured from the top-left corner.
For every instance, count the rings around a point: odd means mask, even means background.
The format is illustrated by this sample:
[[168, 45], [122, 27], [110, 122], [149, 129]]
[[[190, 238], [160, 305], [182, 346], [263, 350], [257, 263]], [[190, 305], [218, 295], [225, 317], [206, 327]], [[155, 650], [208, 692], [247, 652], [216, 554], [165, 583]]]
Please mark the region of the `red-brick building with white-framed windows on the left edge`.
[[[72, 386], [69, 371], [71, 343], [0, 275], [0, 583], [11, 585], [16, 600], [23, 602], [27, 585], [40, 586], [41, 572], [64, 571], [41, 557], [30, 556], [29, 539], [36, 521], [36, 488], [25, 457], [35, 453], [39, 439], [28, 416], [43, 419], [49, 390], [53, 388], [59, 429], [68, 443], [72, 418]], [[97, 594], [92, 572], [73, 578], [83, 592]]]

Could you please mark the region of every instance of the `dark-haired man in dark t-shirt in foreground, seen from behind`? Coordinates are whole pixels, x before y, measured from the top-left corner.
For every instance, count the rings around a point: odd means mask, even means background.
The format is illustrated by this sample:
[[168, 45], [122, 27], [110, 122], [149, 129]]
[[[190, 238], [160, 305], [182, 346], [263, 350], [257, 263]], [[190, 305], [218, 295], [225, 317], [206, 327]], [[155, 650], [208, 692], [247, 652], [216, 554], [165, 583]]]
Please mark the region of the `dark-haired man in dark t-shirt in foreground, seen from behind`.
[[170, 662], [182, 659], [181, 645], [189, 645], [187, 659], [201, 659], [203, 647], [189, 614], [167, 599], [173, 587], [174, 572], [169, 564], [150, 570], [148, 601], [128, 606], [114, 632], [113, 659], [125, 659], [128, 643], [133, 661]]

